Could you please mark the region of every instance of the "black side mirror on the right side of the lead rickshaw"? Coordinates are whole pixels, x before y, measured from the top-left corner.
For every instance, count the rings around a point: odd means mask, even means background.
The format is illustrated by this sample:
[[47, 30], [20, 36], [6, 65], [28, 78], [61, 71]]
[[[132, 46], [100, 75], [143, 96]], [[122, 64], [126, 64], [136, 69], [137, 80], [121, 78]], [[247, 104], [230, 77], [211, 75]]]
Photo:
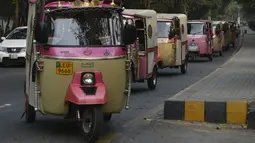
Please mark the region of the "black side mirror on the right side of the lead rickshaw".
[[136, 41], [137, 32], [134, 25], [125, 25], [123, 30], [123, 42], [125, 45], [134, 44]]

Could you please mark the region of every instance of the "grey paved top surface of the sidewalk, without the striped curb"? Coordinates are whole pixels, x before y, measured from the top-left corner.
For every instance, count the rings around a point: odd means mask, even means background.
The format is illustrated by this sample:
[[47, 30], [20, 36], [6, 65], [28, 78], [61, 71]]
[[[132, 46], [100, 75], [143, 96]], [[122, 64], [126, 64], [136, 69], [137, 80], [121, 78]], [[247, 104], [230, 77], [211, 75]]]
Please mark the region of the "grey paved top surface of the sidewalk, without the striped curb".
[[[247, 38], [252, 37], [247, 36]], [[171, 99], [255, 100], [255, 47], [245, 43], [240, 51], [221, 68]]]

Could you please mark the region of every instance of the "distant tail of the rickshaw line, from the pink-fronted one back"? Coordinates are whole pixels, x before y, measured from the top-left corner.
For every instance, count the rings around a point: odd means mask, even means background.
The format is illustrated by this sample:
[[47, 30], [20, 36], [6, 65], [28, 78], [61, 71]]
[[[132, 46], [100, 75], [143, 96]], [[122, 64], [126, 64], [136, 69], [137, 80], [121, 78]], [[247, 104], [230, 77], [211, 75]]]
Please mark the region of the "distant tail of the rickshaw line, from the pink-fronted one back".
[[240, 27], [233, 21], [190, 20], [188, 25], [188, 50], [191, 59], [223, 55], [231, 46], [235, 47]]

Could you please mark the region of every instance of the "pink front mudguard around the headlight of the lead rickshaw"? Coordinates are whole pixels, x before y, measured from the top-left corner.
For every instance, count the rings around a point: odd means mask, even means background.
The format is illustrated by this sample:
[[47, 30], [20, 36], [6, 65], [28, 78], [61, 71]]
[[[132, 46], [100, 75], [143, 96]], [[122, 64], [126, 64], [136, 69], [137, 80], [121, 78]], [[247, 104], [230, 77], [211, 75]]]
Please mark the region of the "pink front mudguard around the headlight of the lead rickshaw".
[[[82, 73], [94, 73], [95, 84], [93, 85], [82, 85], [81, 78]], [[93, 95], [87, 95], [82, 88], [95, 87], [96, 92]], [[77, 105], [95, 105], [105, 104], [106, 98], [106, 87], [102, 79], [102, 73], [98, 71], [78, 71], [73, 75], [72, 82], [70, 83], [67, 95], [65, 98], [66, 102], [71, 102]]]

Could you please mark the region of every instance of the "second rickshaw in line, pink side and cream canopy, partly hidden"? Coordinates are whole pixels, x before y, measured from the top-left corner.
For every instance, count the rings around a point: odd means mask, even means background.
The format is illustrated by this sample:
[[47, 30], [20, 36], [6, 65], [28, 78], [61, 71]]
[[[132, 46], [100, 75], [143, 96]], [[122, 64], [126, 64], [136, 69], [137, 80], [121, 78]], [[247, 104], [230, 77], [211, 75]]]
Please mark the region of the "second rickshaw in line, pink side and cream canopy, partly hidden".
[[157, 85], [157, 13], [154, 10], [125, 9], [123, 22], [136, 27], [137, 40], [132, 45], [132, 80], [144, 82], [147, 80], [149, 89]]

